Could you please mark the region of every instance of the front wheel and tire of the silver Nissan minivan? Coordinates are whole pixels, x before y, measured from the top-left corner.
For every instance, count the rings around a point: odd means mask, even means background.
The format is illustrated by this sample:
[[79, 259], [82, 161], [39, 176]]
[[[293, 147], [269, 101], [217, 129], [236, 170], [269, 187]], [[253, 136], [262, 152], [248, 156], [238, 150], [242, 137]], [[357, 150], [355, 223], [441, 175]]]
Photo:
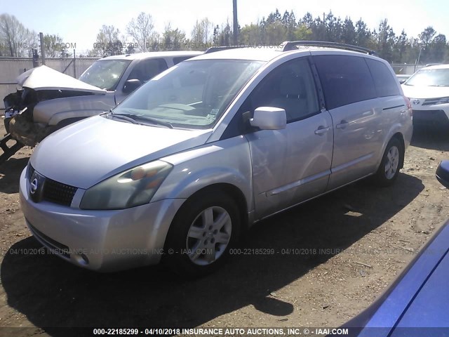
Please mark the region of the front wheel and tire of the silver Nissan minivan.
[[239, 214], [234, 201], [216, 190], [187, 200], [168, 230], [164, 262], [185, 277], [215, 272], [239, 241]]

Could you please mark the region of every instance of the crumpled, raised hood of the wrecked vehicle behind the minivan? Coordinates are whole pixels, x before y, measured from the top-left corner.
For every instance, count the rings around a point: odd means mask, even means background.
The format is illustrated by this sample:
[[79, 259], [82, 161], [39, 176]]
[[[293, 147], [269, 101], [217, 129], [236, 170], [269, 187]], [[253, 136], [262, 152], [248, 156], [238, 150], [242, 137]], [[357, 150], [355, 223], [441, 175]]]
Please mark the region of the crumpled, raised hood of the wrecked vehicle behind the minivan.
[[91, 86], [91, 84], [84, 83], [79, 79], [62, 74], [57, 70], [53, 70], [46, 65], [32, 68], [23, 74], [20, 74], [17, 79], [19, 86], [39, 90], [70, 90], [83, 91], [87, 93], [103, 93], [107, 91], [104, 89]]

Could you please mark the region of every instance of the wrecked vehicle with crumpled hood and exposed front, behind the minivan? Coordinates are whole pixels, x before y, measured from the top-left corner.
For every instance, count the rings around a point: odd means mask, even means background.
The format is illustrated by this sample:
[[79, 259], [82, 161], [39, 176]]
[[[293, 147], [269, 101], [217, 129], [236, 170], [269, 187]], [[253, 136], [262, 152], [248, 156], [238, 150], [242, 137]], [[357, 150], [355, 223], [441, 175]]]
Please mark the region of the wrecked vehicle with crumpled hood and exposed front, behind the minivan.
[[48, 134], [108, 111], [156, 74], [200, 55], [170, 51], [115, 55], [97, 60], [74, 79], [45, 65], [21, 74], [20, 90], [4, 99], [6, 132], [34, 146]]

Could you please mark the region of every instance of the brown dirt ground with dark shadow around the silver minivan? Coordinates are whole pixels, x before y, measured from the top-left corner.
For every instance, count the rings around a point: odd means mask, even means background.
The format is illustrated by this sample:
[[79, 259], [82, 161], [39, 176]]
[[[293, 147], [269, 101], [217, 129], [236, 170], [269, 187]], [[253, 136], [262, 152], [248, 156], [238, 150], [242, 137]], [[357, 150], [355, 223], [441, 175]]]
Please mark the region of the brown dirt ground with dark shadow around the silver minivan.
[[196, 281], [159, 266], [98, 274], [36, 253], [18, 200], [24, 147], [0, 165], [0, 326], [31, 327], [16, 336], [55, 326], [339, 326], [449, 218], [449, 191], [435, 178], [448, 140], [415, 132], [393, 187], [356, 183], [264, 220], [241, 246], [248, 254]]

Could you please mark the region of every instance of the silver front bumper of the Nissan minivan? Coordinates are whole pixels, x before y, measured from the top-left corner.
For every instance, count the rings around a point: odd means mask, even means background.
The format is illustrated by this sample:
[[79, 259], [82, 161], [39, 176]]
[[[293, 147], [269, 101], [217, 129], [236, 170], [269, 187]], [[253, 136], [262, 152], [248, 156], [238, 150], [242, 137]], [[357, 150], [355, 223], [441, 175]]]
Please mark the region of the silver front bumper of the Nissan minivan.
[[34, 237], [74, 265], [102, 272], [159, 263], [168, 228], [185, 199], [165, 199], [131, 209], [85, 211], [29, 198], [27, 169], [20, 204]]

